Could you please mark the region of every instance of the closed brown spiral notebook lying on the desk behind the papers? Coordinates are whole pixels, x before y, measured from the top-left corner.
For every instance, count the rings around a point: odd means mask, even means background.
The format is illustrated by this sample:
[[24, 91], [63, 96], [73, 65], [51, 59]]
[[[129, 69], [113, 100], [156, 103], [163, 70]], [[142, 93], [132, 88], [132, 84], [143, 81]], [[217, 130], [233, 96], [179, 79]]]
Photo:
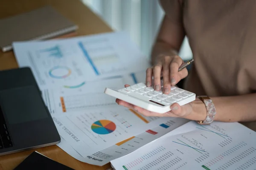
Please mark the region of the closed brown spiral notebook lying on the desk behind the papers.
[[62, 16], [51, 6], [18, 14], [0, 20], [0, 48], [12, 50], [12, 42], [46, 40], [74, 32], [74, 23]]

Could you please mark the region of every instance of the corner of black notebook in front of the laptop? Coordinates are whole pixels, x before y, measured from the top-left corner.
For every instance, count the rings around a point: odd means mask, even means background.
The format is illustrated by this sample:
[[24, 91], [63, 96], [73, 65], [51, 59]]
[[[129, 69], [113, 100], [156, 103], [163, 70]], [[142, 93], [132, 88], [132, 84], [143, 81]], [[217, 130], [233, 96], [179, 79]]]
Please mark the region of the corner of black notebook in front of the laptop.
[[32, 152], [14, 170], [73, 170], [38, 152]]

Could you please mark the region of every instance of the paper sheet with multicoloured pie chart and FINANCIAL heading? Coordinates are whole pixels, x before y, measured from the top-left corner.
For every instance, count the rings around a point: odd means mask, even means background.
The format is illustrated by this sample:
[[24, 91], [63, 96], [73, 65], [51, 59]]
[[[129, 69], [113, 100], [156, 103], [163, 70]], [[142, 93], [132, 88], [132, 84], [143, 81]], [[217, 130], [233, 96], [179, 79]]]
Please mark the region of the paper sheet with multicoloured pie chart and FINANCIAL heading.
[[[163, 118], [143, 117], [122, 106], [52, 116], [60, 135], [81, 156], [91, 155], [161, 124]], [[83, 149], [81, 149], [83, 148]]]

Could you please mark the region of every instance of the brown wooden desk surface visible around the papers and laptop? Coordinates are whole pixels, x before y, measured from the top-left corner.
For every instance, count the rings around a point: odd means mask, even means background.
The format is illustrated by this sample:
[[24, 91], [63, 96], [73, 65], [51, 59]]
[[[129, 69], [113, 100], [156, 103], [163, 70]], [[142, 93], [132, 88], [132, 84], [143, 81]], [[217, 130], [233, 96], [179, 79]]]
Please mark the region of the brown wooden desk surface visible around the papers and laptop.
[[[78, 35], [97, 34], [112, 31], [96, 14], [90, 11], [79, 0], [1, 0], [0, 18], [12, 16], [30, 11], [44, 5], [51, 5], [65, 17], [79, 26]], [[17, 62], [12, 51], [3, 53], [0, 51], [0, 70], [17, 68]], [[0, 80], [1, 81], [1, 80]], [[76, 170], [105, 170], [103, 167], [83, 163], [74, 159], [58, 146], [50, 146], [36, 149], [49, 158], [67, 165]], [[0, 170], [12, 170], [34, 150], [0, 156]]]

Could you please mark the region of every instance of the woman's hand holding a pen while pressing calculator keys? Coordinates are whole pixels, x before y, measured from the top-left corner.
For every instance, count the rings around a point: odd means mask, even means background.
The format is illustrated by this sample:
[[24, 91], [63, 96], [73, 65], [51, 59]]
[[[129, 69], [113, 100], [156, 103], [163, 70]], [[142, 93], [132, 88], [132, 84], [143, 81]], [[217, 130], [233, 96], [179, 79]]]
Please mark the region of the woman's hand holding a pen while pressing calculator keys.
[[[146, 71], [146, 85], [151, 86], [154, 84], [155, 90], [161, 90], [161, 75], [163, 76], [163, 93], [169, 94], [171, 91], [171, 86], [174, 86], [181, 79], [187, 77], [188, 71], [183, 68], [178, 71], [180, 65], [183, 63], [177, 55], [161, 55], [157, 57], [156, 65], [150, 67]], [[152, 80], [152, 77], [154, 79]], [[154, 81], [154, 82], [153, 82]]]

